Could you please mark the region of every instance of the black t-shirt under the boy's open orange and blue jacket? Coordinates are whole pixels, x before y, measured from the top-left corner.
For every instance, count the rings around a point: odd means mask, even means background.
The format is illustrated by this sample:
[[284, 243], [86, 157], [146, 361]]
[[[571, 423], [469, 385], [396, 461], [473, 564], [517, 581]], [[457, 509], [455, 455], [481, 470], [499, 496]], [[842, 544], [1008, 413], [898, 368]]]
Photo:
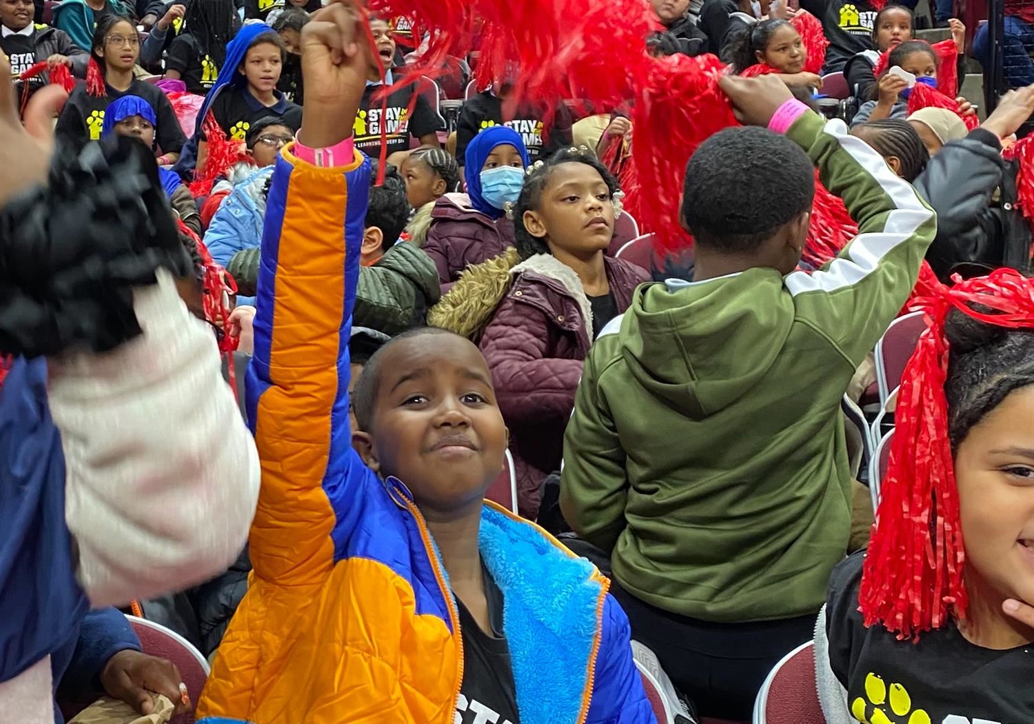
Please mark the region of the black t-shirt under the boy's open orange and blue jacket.
[[457, 724], [496, 722], [520, 724], [517, 690], [510, 666], [510, 646], [503, 635], [503, 593], [482, 563], [488, 617], [494, 636], [478, 626], [463, 602], [456, 598], [460, 635], [463, 638], [463, 683], [456, 700]]

